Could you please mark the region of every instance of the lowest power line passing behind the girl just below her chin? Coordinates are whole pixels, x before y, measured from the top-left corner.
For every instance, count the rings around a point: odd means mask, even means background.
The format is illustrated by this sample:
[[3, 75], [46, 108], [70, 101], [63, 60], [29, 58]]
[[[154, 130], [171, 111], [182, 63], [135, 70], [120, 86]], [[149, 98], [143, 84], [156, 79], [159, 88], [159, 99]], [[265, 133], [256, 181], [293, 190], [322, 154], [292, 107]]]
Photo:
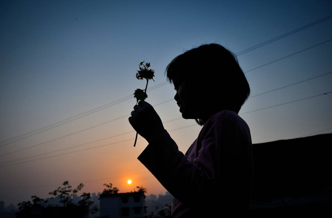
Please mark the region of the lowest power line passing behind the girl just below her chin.
[[[273, 105], [273, 106], [270, 106], [270, 107], [265, 107], [265, 108], [260, 108], [260, 109], [257, 109], [257, 110], [248, 111], [248, 112], [245, 112], [245, 113], [240, 113], [239, 115], [247, 114], [247, 113], [252, 113], [252, 112], [260, 111], [260, 110], [265, 110], [265, 109], [268, 109], [268, 108], [273, 108], [273, 107], [277, 107], [277, 106], [281, 106], [281, 105], [285, 105], [285, 104], [290, 104], [290, 103], [293, 103], [293, 102], [297, 102], [297, 101], [301, 101], [301, 100], [305, 100], [305, 99], [309, 99], [309, 98], [313, 98], [313, 97], [318, 97], [318, 96], [321, 96], [321, 95], [327, 95], [329, 93], [332, 93], [332, 91], [325, 92], [325, 93], [318, 94], [318, 95], [314, 95], [314, 96], [310, 96], [310, 97], [306, 97], [306, 98], [297, 99], [297, 100], [294, 100], [294, 101], [289, 101], [289, 102], [282, 103], [282, 104]], [[192, 127], [192, 126], [196, 126], [196, 125], [197, 124], [189, 125], [189, 126], [185, 126], [185, 127], [180, 127], [180, 128], [177, 128], [177, 129], [169, 130], [168, 132], [179, 130], [179, 129], [184, 129], [184, 128]], [[142, 137], [139, 137], [139, 138], [142, 138]], [[99, 148], [99, 147], [104, 147], [104, 146], [108, 146], [108, 145], [118, 144], [118, 143], [130, 141], [130, 140], [134, 140], [134, 138], [133, 139], [123, 140], [123, 141], [120, 141], [120, 142], [114, 142], [114, 143], [110, 143], [110, 144], [106, 144], [106, 145], [100, 145], [100, 146], [96, 146], [96, 147], [92, 147], [92, 148], [87, 148], [87, 149], [77, 150], [77, 151], [73, 151], [73, 152], [63, 153], [63, 154], [59, 154], [59, 155], [54, 155], [54, 156], [49, 156], [49, 157], [44, 157], [44, 158], [39, 158], [39, 159], [34, 159], [34, 160], [29, 160], [29, 161], [23, 161], [23, 162], [18, 162], [18, 163], [13, 163], [13, 164], [1, 165], [0, 167], [14, 165], [14, 164], [27, 163], [27, 162], [31, 162], [31, 161], [37, 161], [37, 160], [42, 160], [42, 159], [46, 159], [46, 158], [52, 158], [52, 157], [62, 156], [62, 155], [66, 155], [66, 154], [72, 154], [72, 153], [76, 153], [76, 152], [80, 152], [80, 151], [86, 151], [86, 150], [91, 150], [91, 149], [95, 149], [95, 148]]]

